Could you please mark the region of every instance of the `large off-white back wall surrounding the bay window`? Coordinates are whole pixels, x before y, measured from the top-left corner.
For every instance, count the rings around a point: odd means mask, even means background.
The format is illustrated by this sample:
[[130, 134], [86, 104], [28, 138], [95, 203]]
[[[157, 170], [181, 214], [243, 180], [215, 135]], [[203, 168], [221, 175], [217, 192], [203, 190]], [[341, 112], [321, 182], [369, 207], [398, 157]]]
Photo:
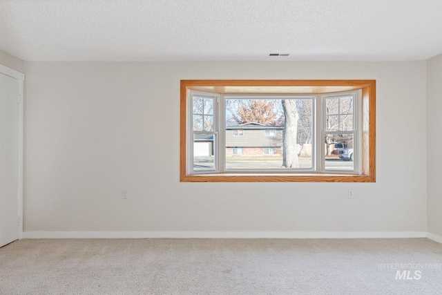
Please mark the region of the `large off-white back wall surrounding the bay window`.
[[[425, 61], [25, 66], [25, 231], [426, 231]], [[376, 183], [180, 183], [180, 79], [376, 79]]]

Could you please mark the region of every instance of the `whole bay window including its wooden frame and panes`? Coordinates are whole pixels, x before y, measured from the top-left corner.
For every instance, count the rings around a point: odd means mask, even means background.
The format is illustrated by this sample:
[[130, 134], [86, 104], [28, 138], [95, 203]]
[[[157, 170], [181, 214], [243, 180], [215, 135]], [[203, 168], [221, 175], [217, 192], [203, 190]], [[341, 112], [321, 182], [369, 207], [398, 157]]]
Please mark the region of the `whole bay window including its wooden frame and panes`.
[[182, 181], [374, 182], [373, 80], [182, 81]]

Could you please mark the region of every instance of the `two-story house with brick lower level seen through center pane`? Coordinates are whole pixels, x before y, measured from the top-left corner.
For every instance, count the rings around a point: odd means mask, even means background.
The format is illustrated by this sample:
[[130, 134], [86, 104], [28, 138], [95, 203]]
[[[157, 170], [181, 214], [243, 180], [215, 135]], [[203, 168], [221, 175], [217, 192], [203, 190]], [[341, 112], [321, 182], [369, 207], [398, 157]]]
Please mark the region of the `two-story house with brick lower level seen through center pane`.
[[282, 155], [283, 130], [260, 123], [226, 127], [226, 155]]

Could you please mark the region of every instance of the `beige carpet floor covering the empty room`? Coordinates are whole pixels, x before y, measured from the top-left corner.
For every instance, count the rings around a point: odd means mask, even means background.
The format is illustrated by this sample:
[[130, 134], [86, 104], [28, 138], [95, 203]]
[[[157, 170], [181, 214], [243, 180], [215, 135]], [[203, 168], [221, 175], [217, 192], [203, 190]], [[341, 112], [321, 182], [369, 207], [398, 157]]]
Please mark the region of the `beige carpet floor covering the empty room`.
[[441, 266], [426, 238], [28, 239], [0, 248], [0, 294], [442, 294]]

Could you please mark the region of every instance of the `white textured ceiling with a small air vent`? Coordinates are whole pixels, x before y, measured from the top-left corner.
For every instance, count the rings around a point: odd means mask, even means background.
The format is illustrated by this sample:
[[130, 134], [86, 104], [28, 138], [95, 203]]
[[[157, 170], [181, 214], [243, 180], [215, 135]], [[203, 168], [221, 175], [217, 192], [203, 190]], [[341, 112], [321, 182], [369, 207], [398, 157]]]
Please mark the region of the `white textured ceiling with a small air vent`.
[[44, 61], [427, 59], [442, 53], [442, 0], [0, 0], [0, 49]]

